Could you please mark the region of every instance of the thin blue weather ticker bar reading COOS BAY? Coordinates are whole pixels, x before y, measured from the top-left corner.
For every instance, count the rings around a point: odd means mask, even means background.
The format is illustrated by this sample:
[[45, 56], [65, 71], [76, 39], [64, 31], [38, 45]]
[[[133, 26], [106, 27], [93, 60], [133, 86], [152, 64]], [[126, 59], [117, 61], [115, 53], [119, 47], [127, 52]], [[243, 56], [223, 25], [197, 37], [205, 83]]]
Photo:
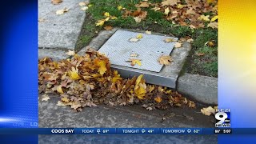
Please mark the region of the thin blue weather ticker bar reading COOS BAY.
[[0, 134], [256, 134], [256, 128], [0, 128]]

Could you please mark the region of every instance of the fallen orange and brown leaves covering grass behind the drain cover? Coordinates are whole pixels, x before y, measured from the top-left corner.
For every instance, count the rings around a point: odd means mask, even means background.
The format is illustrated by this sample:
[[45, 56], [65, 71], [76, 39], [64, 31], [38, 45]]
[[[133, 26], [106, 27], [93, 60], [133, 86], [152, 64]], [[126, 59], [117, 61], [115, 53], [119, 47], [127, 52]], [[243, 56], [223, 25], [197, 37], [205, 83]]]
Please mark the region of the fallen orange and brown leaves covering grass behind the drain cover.
[[167, 20], [179, 26], [218, 28], [218, 2], [215, 0], [163, 0], [157, 3], [145, 0], [136, 7], [137, 10], [120, 9], [122, 18], [132, 16], [135, 22], [142, 22], [147, 16], [146, 9], [150, 9], [162, 12]]

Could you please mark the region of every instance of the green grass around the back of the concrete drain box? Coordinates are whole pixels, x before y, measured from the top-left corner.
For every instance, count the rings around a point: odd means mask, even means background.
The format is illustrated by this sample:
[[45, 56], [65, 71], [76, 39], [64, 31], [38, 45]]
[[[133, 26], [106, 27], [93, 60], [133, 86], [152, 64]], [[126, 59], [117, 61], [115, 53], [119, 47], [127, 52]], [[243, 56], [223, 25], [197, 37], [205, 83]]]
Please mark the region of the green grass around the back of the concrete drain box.
[[[142, 8], [147, 11], [147, 17], [142, 22], [135, 22], [133, 17], [122, 18], [121, 10], [118, 6], [125, 7], [126, 10], [136, 10], [134, 6], [139, 0], [90, 0], [92, 5], [88, 14], [86, 25], [83, 26], [82, 34], [78, 47], [86, 46], [90, 40], [96, 35], [95, 31], [100, 31], [101, 26], [95, 26], [97, 20], [105, 18], [104, 13], [109, 12], [110, 15], [116, 16], [118, 19], [105, 22], [104, 26], [121, 27], [126, 29], [150, 30], [162, 34], [172, 34], [175, 37], [182, 38], [190, 36], [194, 39], [189, 60], [186, 62], [186, 72], [192, 74], [203, 74], [218, 77], [218, 30], [211, 28], [201, 28], [191, 30], [188, 26], [177, 26], [164, 18], [164, 14], [159, 11], [150, 10], [150, 8]], [[149, 2], [162, 2], [162, 0], [150, 0]], [[185, 1], [182, 0], [185, 3]], [[103, 27], [104, 27], [103, 26]], [[205, 46], [208, 41], [214, 41], [216, 46]], [[197, 53], [204, 53], [203, 56], [197, 56]]]

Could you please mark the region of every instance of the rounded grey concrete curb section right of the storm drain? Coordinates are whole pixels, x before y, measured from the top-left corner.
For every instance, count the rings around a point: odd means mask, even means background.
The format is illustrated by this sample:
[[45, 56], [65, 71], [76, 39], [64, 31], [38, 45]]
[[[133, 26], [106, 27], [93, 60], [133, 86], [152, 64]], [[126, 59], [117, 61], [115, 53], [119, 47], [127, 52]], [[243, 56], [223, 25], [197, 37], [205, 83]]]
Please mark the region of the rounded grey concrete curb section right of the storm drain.
[[178, 78], [177, 90], [198, 102], [218, 105], [218, 78], [186, 73]]

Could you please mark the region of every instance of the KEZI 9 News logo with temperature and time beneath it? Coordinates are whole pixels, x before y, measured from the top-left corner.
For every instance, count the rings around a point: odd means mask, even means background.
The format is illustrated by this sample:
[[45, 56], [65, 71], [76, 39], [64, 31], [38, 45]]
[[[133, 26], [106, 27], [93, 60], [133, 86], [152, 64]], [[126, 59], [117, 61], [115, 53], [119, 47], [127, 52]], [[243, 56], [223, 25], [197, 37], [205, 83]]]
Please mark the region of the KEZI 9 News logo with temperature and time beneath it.
[[215, 113], [214, 134], [231, 134], [230, 128], [230, 109], [217, 109]]

